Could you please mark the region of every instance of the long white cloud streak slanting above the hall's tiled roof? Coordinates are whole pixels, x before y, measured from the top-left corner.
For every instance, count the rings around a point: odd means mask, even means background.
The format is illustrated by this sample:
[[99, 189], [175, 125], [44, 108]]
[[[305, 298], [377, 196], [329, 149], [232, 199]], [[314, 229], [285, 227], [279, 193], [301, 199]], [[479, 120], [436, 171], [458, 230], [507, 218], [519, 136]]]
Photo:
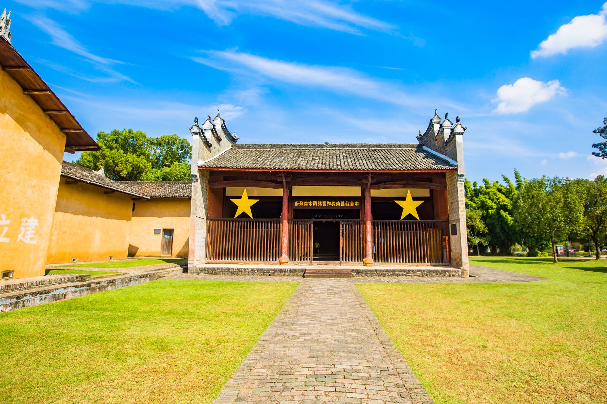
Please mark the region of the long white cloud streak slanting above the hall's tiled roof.
[[[334, 92], [350, 93], [398, 105], [419, 107], [427, 104], [423, 98], [412, 97], [393, 85], [368, 78], [354, 69], [287, 62], [234, 50], [210, 50], [204, 53], [207, 57], [194, 57], [192, 60], [214, 69], [256, 73], [277, 81], [306, 87], [324, 87]], [[247, 70], [238, 70], [242, 67]]]

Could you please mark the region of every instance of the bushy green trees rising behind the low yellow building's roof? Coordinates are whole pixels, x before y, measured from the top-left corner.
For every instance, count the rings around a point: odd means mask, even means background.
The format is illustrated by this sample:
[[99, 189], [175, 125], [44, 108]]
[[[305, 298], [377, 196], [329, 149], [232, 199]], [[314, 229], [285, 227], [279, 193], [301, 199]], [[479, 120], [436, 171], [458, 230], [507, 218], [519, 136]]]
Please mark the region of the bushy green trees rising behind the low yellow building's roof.
[[101, 150], [83, 152], [76, 161], [117, 181], [188, 181], [192, 146], [177, 135], [149, 138], [140, 130], [97, 133]]

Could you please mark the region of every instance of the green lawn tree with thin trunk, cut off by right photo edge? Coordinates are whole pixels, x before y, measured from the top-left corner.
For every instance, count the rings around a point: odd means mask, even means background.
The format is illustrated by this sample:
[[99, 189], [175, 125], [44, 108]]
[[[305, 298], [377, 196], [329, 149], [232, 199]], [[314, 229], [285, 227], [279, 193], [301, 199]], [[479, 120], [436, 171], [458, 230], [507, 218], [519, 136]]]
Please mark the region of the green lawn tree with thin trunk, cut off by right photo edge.
[[582, 202], [582, 226], [580, 238], [592, 240], [596, 249], [595, 258], [601, 257], [600, 241], [607, 228], [607, 179], [599, 175], [594, 181], [578, 179], [572, 181]]

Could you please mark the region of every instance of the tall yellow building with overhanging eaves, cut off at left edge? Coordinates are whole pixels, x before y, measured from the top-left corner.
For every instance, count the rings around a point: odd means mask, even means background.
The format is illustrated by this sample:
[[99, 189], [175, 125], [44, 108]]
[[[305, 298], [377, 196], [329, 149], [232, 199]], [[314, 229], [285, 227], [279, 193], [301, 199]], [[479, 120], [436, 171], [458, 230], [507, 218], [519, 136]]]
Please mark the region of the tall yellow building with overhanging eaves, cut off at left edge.
[[64, 152], [98, 150], [10, 43], [0, 15], [0, 273], [44, 275]]

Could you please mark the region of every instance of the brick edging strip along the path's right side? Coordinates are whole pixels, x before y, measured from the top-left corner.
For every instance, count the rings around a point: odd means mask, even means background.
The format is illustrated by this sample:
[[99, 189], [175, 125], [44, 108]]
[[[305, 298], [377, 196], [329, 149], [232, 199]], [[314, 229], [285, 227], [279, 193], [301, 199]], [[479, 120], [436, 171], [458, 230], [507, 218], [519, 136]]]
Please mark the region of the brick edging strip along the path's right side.
[[375, 331], [379, 342], [385, 349], [388, 359], [390, 359], [390, 362], [392, 362], [394, 370], [402, 379], [405, 388], [407, 391], [409, 391], [409, 394], [411, 394], [412, 401], [419, 404], [433, 404], [434, 401], [432, 400], [432, 397], [430, 397], [430, 394], [428, 394], [424, 386], [422, 386], [422, 384], [419, 382], [419, 379], [413, 372], [413, 369], [411, 369], [407, 361], [402, 357], [401, 352], [396, 349], [392, 339], [388, 337], [388, 334], [379, 323], [378, 318], [375, 316], [375, 314], [373, 314], [373, 311], [371, 311], [371, 308], [369, 305], [367, 305], [367, 302], [362, 297], [361, 292], [358, 291], [358, 288], [356, 288], [354, 283], [350, 283], [350, 286], [354, 292], [354, 295], [356, 298], [358, 298], [358, 302], [361, 305], [362, 310], [367, 315], [369, 323], [371, 324], [373, 331]]

